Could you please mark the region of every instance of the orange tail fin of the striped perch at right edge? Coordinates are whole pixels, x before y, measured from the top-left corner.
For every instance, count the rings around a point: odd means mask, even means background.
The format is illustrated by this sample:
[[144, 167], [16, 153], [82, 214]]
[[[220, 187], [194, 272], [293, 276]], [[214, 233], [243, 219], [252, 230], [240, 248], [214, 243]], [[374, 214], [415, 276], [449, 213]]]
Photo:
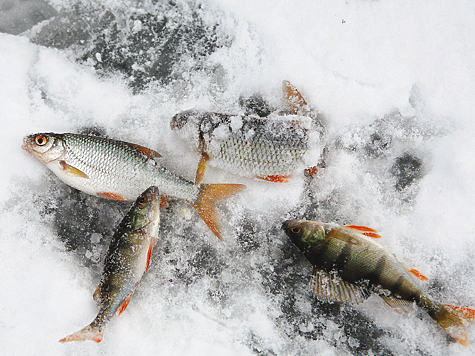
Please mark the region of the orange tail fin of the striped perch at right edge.
[[[463, 346], [468, 346], [469, 340], [465, 325], [475, 320], [475, 310], [469, 308], [444, 305], [444, 312], [438, 313], [434, 318], [455, 340]], [[440, 315], [442, 314], [442, 315]]]

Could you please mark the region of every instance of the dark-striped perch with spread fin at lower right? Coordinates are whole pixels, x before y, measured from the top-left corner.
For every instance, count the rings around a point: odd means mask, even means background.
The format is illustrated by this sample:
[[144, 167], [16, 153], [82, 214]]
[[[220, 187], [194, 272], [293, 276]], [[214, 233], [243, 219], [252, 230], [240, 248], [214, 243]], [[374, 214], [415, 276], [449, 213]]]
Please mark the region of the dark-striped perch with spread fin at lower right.
[[465, 325], [475, 320], [475, 310], [432, 299], [419, 283], [427, 277], [399, 262], [374, 239], [380, 237], [375, 230], [309, 220], [287, 220], [282, 228], [313, 265], [310, 286], [318, 299], [356, 304], [375, 293], [398, 313], [410, 312], [416, 304], [468, 346]]

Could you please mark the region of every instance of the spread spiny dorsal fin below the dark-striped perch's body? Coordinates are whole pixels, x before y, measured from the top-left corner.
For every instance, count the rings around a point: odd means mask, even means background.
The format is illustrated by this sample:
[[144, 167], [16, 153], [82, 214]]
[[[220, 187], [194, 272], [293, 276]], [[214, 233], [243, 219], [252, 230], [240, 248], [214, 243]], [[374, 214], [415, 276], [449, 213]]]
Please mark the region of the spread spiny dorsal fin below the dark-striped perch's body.
[[362, 287], [318, 269], [313, 271], [310, 286], [318, 299], [327, 302], [357, 304], [363, 302], [370, 294]]

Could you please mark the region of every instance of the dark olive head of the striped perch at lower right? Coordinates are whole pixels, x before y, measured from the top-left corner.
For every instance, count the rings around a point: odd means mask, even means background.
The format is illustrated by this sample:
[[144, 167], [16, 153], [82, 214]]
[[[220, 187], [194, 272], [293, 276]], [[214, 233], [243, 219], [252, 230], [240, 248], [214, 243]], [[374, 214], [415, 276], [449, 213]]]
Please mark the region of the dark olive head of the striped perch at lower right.
[[287, 220], [282, 224], [290, 240], [302, 251], [313, 244], [325, 239], [326, 232], [323, 223], [309, 220]]

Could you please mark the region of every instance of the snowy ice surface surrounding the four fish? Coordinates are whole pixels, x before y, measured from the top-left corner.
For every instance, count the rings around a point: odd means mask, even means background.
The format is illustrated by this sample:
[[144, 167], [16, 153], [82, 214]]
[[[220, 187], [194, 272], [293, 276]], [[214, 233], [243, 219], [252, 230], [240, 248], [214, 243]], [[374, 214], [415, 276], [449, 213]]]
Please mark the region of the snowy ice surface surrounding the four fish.
[[[399, 315], [377, 297], [355, 307], [314, 300], [311, 266], [280, 229], [287, 218], [373, 227], [429, 277], [431, 296], [475, 306], [469, 11], [442, 2], [133, 4], [54, 1], [48, 22], [0, 34], [5, 354], [473, 354], [420, 310]], [[22, 137], [123, 139], [192, 179], [198, 157], [171, 117], [190, 108], [266, 116], [282, 104], [283, 79], [327, 118], [317, 177], [278, 185], [208, 168], [206, 182], [247, 185], [219, 204], [224, 241], [188, 204], [171, 202], [150, 269], [104, 341], [59, 344], [96, 315], [102, 260], [130, 205], [65, 186], [20, 149]], [[474, 326], [468, 332], [475, 340]]]

